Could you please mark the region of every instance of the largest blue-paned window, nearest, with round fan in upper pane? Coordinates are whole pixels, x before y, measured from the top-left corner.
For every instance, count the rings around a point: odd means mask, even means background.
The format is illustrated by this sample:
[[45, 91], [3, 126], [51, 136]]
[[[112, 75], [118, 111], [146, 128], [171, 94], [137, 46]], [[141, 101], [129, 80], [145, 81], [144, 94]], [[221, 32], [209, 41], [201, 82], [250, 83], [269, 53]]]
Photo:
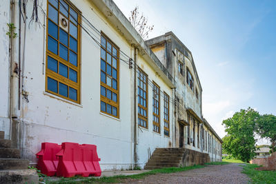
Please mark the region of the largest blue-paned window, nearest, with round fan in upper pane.
[[66, 0], [49, 0], [46, 92], [80, 103], [80, 13]]

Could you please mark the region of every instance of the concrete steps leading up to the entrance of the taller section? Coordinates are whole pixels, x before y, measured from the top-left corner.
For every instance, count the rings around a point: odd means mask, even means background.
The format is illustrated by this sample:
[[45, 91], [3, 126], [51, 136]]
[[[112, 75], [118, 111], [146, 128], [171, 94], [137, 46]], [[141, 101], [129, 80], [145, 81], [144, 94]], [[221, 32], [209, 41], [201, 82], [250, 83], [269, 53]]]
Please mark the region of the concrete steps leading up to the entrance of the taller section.
[[154, 170], [162, 167], [180, 167], [184, 156], [181, 148], [156, 148], [146, 163], [145, 170]]

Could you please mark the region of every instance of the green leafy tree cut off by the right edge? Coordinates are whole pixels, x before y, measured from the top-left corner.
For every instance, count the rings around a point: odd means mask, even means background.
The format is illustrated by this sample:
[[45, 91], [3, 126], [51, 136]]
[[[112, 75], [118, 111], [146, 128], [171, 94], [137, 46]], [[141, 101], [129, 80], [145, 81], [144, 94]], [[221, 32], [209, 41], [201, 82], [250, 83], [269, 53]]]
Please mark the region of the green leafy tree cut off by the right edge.
[[264, 114], [256, 123], [256, 132], [261, 138], [269, 139], [271, 143], [270, 152], [276, 151], [276, 116]]

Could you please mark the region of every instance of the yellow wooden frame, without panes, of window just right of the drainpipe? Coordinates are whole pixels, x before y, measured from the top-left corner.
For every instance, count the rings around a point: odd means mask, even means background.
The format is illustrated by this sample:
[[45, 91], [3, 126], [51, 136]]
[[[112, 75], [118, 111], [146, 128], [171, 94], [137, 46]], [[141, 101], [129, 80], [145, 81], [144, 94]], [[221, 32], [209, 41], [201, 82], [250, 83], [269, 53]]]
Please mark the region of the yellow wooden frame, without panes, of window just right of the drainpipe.
[[[139, 74], [137, 75], [137, 105], [138, 105], [138, 125], [140, 127], [144, 127], [146, 129], [148, 129], [148, 75], [143, 71], [141, 70], [141, 68], [137, 68], [138, 69], [138, 72]], [[143, 79], [141, 80], [140, 78], [140, 73], [143, 74]], [[144, 83], [144, 76], [146, 76], [146, 83]], [[144, 89], [141, 89], [140, 86], [139, 86], [139, 83], [143, 83], [143, 86], [144, 84], [146, 84], [146, 91]], [[138, 90], [142, 90], [143, 92], [146, 92], [146, 99], [144, 99], [143, 96], [139, 95], [139, 92]], [[139, 97], [144, 100], [146, 100], [146, 107], [144, 107], [143, 105], [139, 104]], [[139, 113], [139, 108], [141, 108], [141, 110], [144, 110], [146, 112], [146, 116], [144, 116], [144, 114], [141, 114]], [[140, 119], [140, 120], [139, 120]], [[146, 122], [146, 126], [144, 125], [141, 125], [141, 123], [139, 123], [139, 121], [145, 121]], [[144, 123], [143, 123], [144, 124]]]

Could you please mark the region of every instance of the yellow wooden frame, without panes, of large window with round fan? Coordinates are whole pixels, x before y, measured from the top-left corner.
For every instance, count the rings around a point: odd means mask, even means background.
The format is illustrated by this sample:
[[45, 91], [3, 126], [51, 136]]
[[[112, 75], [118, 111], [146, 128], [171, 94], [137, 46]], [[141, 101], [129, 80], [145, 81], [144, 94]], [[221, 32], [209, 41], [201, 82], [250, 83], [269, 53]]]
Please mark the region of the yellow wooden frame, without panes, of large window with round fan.
[[[68, 0], [63, 0], [64, 3], [66, 3], [68, 5], [68, 17], [66, 17], [63, 12], [61, 12], [60, 10], [60, 3], [59, 1], [57, 1], [58, 3], [58, 8], [55, 7], [55, 5], [52, 5], [49, 1], [47, 1], [47, 17], [46, 17], [46, 82], [45, 82], [45, 89], [46, 92], [49, 92], [50, 94], [55, 94], [56, 96], [61, 97], [62, 99], [67, 99], [68, 101], [72, 101], [75, 103], [81, 103], [81, 11], [79, 11], [79, 9], [74, 6], [70, 1]], [[58, 17], [57, 17], [57, 21], [58, 24], [55, 23], [54, 20], [51, 20], [49, 17], [49, 6], [51, 6], [52, 8], [54, 8], [55, 10], [57, 10], [58, 13]], [[77, 24], [75, 23], [75, 19], [70, 18], [70, 10], [74, 10], [75, 12], [77, 12]], [[60, 15], [63, 17], [67, 18], [68, 24], [72, 23], [75, 26], [77, 26], [77, 38], [75, 38], [72, 34], [70, 34], [70, 28], [68, 25], [67, 29], [68, 31], [66, 32], [68, 34], [68, 45], [64, 45], [63, 43], [61, 43], [60, 39], [59, 39], [59, 30], [63, 30], [64, 29], [61, 27], [62, 25], [59, 25], [59, 18]], [[55, 25], [57, 25], [57, 39], [50, 35], [50, 33], [48, 32], [49, 29], [49, 21], [51, 21], [52, 23], [54, 23]], [[57, 41], [57, 54], [51, 52], [50, 50], [48, 50], [48, 37], [50, 37], [51, 39], [54, 39], [55, 41]], [[70, 49], [70, 37], [72, 37], [73, 39], [77, 40], [77, 52], [75, 52], [74, 50]], [[63, 59], [62, 57], [59, 56], [59, 45], [63, 45], [63, 47], [66, 47], [68, 50], [68, 61], [66, 61], [65, 59]], [[70, 63], [70, 51], [74, 52], [75, 54], [77, 54], [77, 66], [73, 65], [72, 63]], [[50, 70], [48, 68], [48, 57], [51, 57], [52, 59], [55, 59], [55, 61], [57, 61], [57, 72]], [[67, 69], [67, 78], [61, 74], [59, 74], [59, 63], [65, 65], [68, 69]], [[70, 69], [74, 70], [75, 72], [77, 72], [77, 82], [70, 80]], [[53, 92], [51, 90], [48, 90], [48, 78], [53, 79], [55, 81], [57, 81], [57, 92]], [[59, 83], [62, 83], [63, 85], [67, 85], [67, 96], [63, 96], [61, 94], [59, 94]], [[77, 90], [77, 101], [75, 101], [74, 99], [70, 99], [70, 88]]]

